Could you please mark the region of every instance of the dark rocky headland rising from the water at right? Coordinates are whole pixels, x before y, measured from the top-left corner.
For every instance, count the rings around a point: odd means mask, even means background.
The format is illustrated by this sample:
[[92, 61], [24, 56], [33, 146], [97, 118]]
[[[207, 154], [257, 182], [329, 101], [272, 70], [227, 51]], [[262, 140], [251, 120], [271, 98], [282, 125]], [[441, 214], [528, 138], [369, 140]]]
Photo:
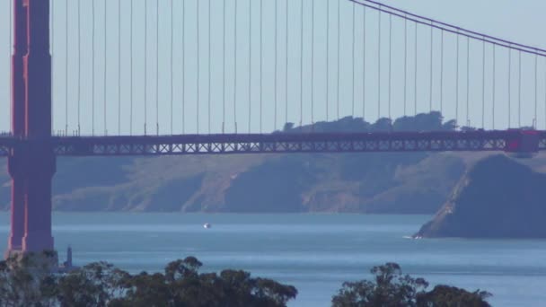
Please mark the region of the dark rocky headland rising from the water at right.
[[417, 237], [546, 238], [546, 175], [505, 155], [477, 162]]

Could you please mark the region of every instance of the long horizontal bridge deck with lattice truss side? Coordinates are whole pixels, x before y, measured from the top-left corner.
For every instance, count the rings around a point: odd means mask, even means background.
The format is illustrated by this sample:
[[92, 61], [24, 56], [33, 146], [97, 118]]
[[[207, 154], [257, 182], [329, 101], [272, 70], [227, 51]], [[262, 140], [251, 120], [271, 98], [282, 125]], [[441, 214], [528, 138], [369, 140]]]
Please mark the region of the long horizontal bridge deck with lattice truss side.
[[[532, 144], [524, 140], [532, 136]], [[60, 156], [233, 153], [370, 153], [546, 150], [546, 131], [274, 133], [181, 136], [53, 136], [31, 141], [0, 136], [0, 156], [30, 142], [49, 142]]]

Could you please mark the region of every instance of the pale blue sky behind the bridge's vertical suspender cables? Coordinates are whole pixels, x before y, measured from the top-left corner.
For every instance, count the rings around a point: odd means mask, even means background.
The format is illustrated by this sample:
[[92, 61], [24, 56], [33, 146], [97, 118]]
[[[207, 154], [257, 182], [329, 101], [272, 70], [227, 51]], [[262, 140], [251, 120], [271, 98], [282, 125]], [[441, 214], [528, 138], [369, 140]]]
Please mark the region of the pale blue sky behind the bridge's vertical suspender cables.
[[[5, 131], [10, 125], [10, 15], [9, 1], [0, 1], [0, 72], [4, 72], [0, 74], [0, 131]], [[269, 132], [281, 128], [286, 120], [298, 125], [300, 122], [309, 124], [312, 121], [327, 118], [332, 120], [338, 118], [338, 115], [343, 117], [354, 114], [357, 117], [364, 115], [366, 120], [374, 121], [378, 116], [389, 115], [389, 100], [392, 118], [404, 115], [404, 101], [406, 101], [405, 114], [414, 114], [417, 101], [418, 112], [429, 110], [432, 103], [434, 110], [444, 111], [445, 118], [458, 118], [458, 121], [464, 124], [468, 113], [470, 124], [480, 127], [482, 101], [485, 99], [487, 114], [483, 123], [484, 127], [515, 127], [520, 118], [521, 125], [533, 124], [535, 103], [535, 58], [533, 56], [522, 56], [523, 111], [520, 115], [515, 108], [520, 101], [520, 87], [517, 83], [518, 54], [512, 54], [512, 85], [508, 87], [508, 53], [504, 48], [496, 50], [496, 99], [495, 116], [493, 116], [491, 114], [493, 65], [490, 46], [486, 46], [486, 79], [485, 83], [482, 83], [483, 46], [479, 42], [471, 41], [468, 48], [471, 61], [467, 63], [467, 42], [465, 39], [460, 39], [457, 91], [457, 39], [454, 35], [445, 34], [442, 64], [439, 56], [441, 32], [433, 31], [431, 48], [430, 29], [419, 26], [416, 65], [414, 24], [411, 22], [407, 24], [408, 40], [405, 40], [404, 22], [398, 18], [392, 18], [392, 44], [389, 44], [389, 16], [383, 13], [380, 22], [379, 15], [374, 10], [366, 9], [364, 13], [362, 7], [348, 0], [339, 2], [341, 8], [339, 54], [337, 0], [303, 0], [303, 36], [301, 1], [288, 0], [287, 15], [285, 0], [263, 1], [262, 60], [260, 60], [260, 1], [258, 0], [251, 0], [251, 2], [237, 0], [236, 10], [235, 0], [225, 2], [211, 0], [210, 29], [208, 27], [209, 1], [207, 0], [186, 0], [184, 5], [181, 0], [173, 0], [172, 6], [171, 1], [161, 0], [157, 20], [156, 2], [148, 0], [146, 35], [144, 35], [145, 0], [131, 0], [133, 2], [132, 53], [129, 48], [129, 1], [109, 0], [108, 3], [101, 0], [94, 1], [94, 63], [92, 61], [92, 1], [80, 0], [79, 2], [81, 5], [79, 31], [78, 1], [54, 0], [52, 2], [53, 130], [55, 132], [66, 129], [68, 134], [72, 134], [78, 129], [78, 123], [83, 135], [219, 133], [235, 130], [237, 132]], [[118, 11], [119, 4], [121, 13]], [[521, 2], [513, 0], [385, 0], [383, 4], [472, 31], [546, 48], [546, 37], [542, 35], [545, 26], [543, 12], [546, 12], [546, 2], [542, 0]], [[353, 47], [354, 7], [356, 39]], [[225, 27], [224, 8], [228, 16]], [[186, 12], [184, 18], [181, 14], [183, 9]], [[66, 20], [66, 12], [68, 20]], [[120, 19], [119, 16], [121, 16]], [[249, 27], [250, 16], [251, 27]], [[276, 20], [277, 39], [275, 39]], [[286, 20], [288, 22], [287, 39]], [[329, 23], [330, 27], [328, 27]], [[313, 28], [312, 24], [314, 24]], [[381, 42], [378, 37], [380, 24]], [[157, 28], [156, 25], [158, 25]], [[121, 33], [120, 39], [118, 29]], [[182, 29], [184, 29], [183, 32]], [[104, 33], [106, 33], [106, 40]], [[68, 44], [66, 44], [66, 36]], [[79, 53], [78, 36], [80, 38]], [[147, 48], [145, 48], [145, 41]], [[389, 57], [390, 46], [391, 57]], [[404, 46], [407, 46], [407, 54], [404, 53]], [[287, 54], [286, 47], [288, 47]], [[277, 61], [275, 60], [276, 49]], [[353, 50], [355, 50], [354, 57]], [[301, 55], [304, 55], [303, 62], [300, 60]], [[378, 55], [381, 56], [378, 57]], [[408, 61], [404, 61], [405, 55]], [[391, 58], [391, 77], [389, 77], [389, 58]], [[538, 58], [537, 61], [537, 125], [544, 128], [546, 127], [546, 59]], [[92, 78], [93, 65], [94, 78]], [[431, 71], [432, 92], [430, 91]], [[468, 81], [467, 73], [470, 75]], [[415, 82], [416, 75], [417, 82]], [[440, 75], [442, 87], [440, 87]], [[485, 92], [483, 85], [485, 85]], [[508, 99], [508, 92], [510, 92], [510, 99]], [[468, 110], [466, 109], [467, 100]], [[78, 101], [80, 101], [79, 107]], [[249, 101], [251, 101], [250, 111]], [[380, 101], [380, 108], [378, 108], [378, 101]], [[458, 108], [456, 108], [456, 101], [459, 101]], [[508, 118], [508, 102], [511, 104], [511, 118]], [[120, 117], [119, 110], [121, 110]], [[132, 121], [129, 116], [131, 110], [133, 110]], [[457, 114], [455, 110], [458, 110]], [[493, 126], [493, 118], [495, 118], [495, 126]]]

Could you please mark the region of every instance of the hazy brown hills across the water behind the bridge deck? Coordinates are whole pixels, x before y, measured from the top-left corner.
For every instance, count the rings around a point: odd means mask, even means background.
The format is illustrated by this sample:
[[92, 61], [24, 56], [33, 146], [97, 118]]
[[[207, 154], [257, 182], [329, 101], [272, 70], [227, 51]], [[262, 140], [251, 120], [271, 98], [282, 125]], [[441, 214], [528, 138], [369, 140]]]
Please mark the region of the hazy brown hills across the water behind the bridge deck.
[[[284, 131], [455, 128], [454, 120], [444, 122], [439, 112], [432, 112], [394, 122], [381, 118], [373, 124], [351, 117], [313, 127], [288, 123]], [[464, 170], [458, 156], [436, 153], [60, 158], [54, 207], [64, 211], [432, 215]], [[9, 189], [8, 174], [0, 171], [0, 204], [5, 209]]]

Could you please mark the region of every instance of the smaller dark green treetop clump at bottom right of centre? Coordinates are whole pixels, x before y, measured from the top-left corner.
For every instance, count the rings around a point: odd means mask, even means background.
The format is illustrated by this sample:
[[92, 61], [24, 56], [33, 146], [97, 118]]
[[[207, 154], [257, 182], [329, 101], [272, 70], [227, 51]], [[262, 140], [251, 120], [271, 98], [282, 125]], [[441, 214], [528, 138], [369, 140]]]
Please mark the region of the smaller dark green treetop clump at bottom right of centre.
[[468, 292], [447, 285], [436, 285], [425, 290], [428, 283], [423, 278], [403, 275], [396, 263], [387, 263], [371, 270], [374, 281], [346, 282], [332, 297], [334, 307], [489, 307], [489, 293]]

